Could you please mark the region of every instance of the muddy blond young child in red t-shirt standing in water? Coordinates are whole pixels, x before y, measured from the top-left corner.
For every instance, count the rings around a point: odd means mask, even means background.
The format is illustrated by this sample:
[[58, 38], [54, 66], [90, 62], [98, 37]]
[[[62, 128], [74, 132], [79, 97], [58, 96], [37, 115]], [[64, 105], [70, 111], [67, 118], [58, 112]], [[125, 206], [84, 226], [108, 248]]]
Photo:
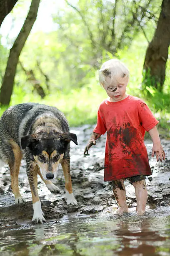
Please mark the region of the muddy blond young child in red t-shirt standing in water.
[[143, 100], [126, 94], [129, 71], [119, 60], [110, 59], [102, 65], [99, 82], [109, 97], [99, 106], [97, 125], [84, 154], [88, 154], [97, 138], [107, 131], [104, 180], [112, 182], [119, 205], [116, 213], [128, 212], [124, 180], [129, 178], [135, 187], [136, 212], [142, 215], [148, 195], [145, 176], [152, 174], [144, 143], [145, 131], [153, 140], [152, 157], [156, 155], [157, 161], [165, 160], [156, 128], [159, 122]]

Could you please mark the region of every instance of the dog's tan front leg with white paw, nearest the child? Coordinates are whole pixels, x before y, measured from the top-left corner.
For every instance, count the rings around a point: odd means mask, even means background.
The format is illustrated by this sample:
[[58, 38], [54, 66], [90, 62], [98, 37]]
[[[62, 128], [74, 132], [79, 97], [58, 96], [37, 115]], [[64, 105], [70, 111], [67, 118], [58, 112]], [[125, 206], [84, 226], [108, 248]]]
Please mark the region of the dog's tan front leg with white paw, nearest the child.
[[77, 201], [72, 192], [72, 183], [70, 175], [70, 159], [64, 159], [61, 162], [62, 170], [65, 177], [65, 194], [67, 197], [67, 205], [77, 205]]

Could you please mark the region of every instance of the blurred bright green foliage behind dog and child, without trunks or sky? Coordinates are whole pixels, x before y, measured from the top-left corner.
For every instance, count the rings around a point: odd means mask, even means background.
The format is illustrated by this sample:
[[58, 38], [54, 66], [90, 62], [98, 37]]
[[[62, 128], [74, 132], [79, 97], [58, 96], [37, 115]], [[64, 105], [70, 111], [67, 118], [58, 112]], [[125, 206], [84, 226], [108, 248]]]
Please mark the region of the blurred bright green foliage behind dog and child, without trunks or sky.
[[[130, 69], [127, 92], [142, 97], [161, 120], [163, 128], [168, 129], [166, 120], [170, 116], [169, 62], [163, 92], [158, 92], [150, 86], [142, 91], [143, 63], [148, 42], [141, 26], [150, 40], [156, 27], [155, 18], [151, 17], [151, 14], [159, 17], [161, 3], [159, 0], [153, 0], [148, 7], [148, 0], [135, 3], [136, 5], [133, 1], [123, 1], [122, 4], [122, 1], [117, 1], [114, 14], [114, 1], [79, 0], [75, 4], [82, 16], [69, 5], [65, 4], [64, 8], [61, 5], [53, 16], [56, 30], [49, 33], [31, 33], [20, 55], [23, 68], [34, 71], [35, 79], [40, 81], [47, 96], [42, 100], [37, 95], [19, 63], [10, 105], [39, 102], [62, 110], [71, 126], [95, 123], [97, 108], [107, 97], [98, 83], [97, 68], [107, 59], [117, 57]], [[144, 9], [146, 17], [142, 12]], [[137, 20], [133, 23], [136, 10], [140, 25]], [[13, 15], [15, 16], [15, 10]], [[122, 34], [122, 31], [125, 33]], [[2, 75], [8, 51], [8, 46], [5, 48], [0, 45]], [[45, 75], [40, 72], [37, 61], [43, 73], [50, 79], [50, 90], [47, 89]], [[2, 78], [0, 79], [2, 82]], [[0, 114], [3, 111], [4, 108], [1, 108]]]

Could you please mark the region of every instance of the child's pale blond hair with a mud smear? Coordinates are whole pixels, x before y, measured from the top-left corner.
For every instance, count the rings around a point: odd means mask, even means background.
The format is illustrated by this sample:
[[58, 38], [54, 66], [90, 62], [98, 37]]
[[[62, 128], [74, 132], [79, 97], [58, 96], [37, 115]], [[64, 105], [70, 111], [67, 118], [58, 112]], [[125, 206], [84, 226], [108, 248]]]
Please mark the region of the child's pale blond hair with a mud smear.
[[110, 59], [103, 63], [99, 70], [99, 82], [102, 86], [107, 84], [105, 77], [109, 77], [110, 80], [115, 80], [115, 82], [119, 82], [119, 78], [125, 78], [128, 82], [129, 70], [120, 60]]

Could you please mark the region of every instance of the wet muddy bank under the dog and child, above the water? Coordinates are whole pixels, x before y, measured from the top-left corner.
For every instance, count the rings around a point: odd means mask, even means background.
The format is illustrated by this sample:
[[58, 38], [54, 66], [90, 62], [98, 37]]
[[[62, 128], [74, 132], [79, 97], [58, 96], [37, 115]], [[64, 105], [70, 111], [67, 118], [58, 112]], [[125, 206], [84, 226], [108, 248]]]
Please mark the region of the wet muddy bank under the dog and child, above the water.
[[[78, 146], [71, 142], [71, 176], [72, 187], [77, 206], [66, 205], [65, 180], [61, 166], [55, 184], [60, 188], [60, 193], [51, 193], [38, 177], [38, 192], [42, 202], [42, 210], [47, 222], [59, 220], [63, 215], [73, 214], [92, 215], [97, 212], [116, 210], [117, 204], [109, 182], [104, 182], [104, 155], [105, 138], [101, 136], [96, 146], [90, 148], [90, 155], [84, 156], [84, 148], [94, 126], [83, 125], [72, 128], [71, 132], [77, 134]], [[148, 137], [148, 136], [147, 136]], [[148, 187], [147, 209], [167, 206], [170, 204], [170, 140], [161, 139], [166, 154], [166, 160], [158, 162], [151, 159], [152, 141], [145, 140], [153, 175], [147, 177]], [[0, 169], [0, 224], [25, 225], [30, 224], [33, 216], [32, 198], [28, 178], [26, 175], [25, 161], [20, 167], [19, 185], [21, 195], [27, 202], [15, 205], [15, 200], [10, 187], [10, 171], [8, 166]], [[129, 210], [135, 212], [136, 200], [133, 186], [125, 181], [127, 202]]]

